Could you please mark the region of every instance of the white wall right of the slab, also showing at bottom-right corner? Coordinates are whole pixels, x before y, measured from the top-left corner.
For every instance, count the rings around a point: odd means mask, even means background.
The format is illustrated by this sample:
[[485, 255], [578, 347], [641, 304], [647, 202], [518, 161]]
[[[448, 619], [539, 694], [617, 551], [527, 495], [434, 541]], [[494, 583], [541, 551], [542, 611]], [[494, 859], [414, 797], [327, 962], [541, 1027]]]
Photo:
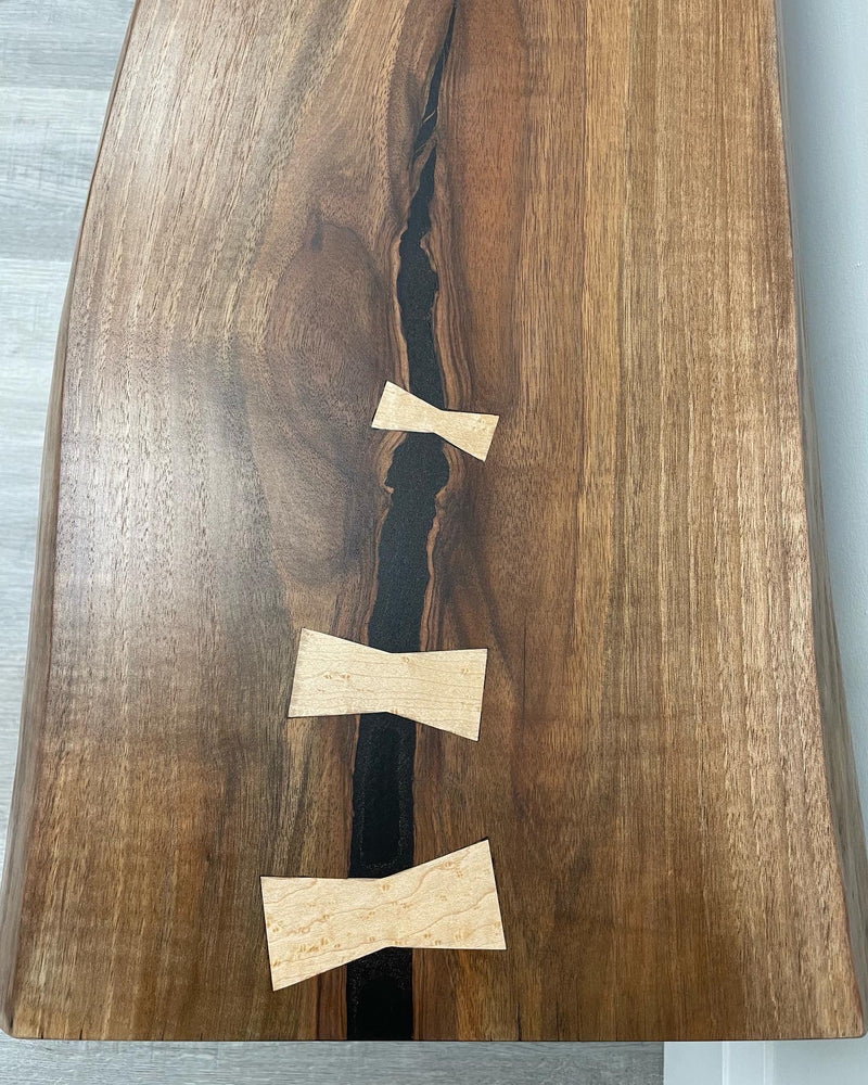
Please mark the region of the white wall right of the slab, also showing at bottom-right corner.
[[[868, 0], [778, 0], [805, 348], [868, 810]], [[666, 1085], [868, 1085], [868, 1041], [667, 1044]]]

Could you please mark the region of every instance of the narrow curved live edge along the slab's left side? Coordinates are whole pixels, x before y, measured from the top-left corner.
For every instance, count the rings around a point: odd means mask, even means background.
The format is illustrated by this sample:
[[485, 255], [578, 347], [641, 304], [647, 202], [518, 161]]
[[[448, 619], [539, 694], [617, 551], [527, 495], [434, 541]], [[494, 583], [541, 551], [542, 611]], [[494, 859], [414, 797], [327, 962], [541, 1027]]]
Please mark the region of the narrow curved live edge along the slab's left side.
[[78, 231], [69, 281], [66, 286], [63, 309], [58, 330], [58, 345], [54, 350], [54, 370], [51, 376], [46, 434], [42, 446], [42, 468], [39, 483], [39, 522], [36, 535], [36, 567], [34, 572], [33, 599], [30, 603], [30, 630], [27, 643], [27, 662], [24, 672], [24, 695], [22, 700], [21, 730], [15, 764], [15, 780], [12, 789], [12, 807], [9, 816], [7, 852], [3, 879], [0, 885], [0, 1029], [10, 1036], [15, 1032], [15, 983], [17, 975], [18, 929], [24, 886], [29, 855], [29, 839], [33, 812], [36, 803], [35, 768], [40, 742], [40, 720], [44, 718], [44, 703], [48, 694], [49, 675], [52, 660], [52, 639], [41, 636], [41, 630], [52, 629], [54, 607], [54, 565], [58, 537], [58, 496], [60, 487], [61, 443], [63, 436], [63, 396], [66, 376], [66, 350], [69, 333], [69, 311], [76, 273], [81, 251], [81, 239], [90, 212], [95, 178], [103, 148], [105, 132], [112, 116], [117, 88], [129, 52], [129, 44], [139, 14], [136, 0], [130, 13], [127, 31], [120, 47], [120, 55], [108, 91], [105, 118], [100, 133], [97, 157], [93, 163], [90, 186], [85, 202], [85, 213]]

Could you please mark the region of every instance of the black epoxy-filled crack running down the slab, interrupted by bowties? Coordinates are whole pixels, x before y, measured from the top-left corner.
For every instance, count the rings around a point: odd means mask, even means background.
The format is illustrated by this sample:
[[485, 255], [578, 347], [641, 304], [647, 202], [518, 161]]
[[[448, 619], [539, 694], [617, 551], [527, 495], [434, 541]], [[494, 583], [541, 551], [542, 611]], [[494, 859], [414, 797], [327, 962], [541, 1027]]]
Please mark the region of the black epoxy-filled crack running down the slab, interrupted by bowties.
[[[413, 144], [413, 163], [436, 132], [439, 89], [449, 55], [455, 7], [431, 77], [427, 105]], [[410, 201], [398, 245], [397, 299], [407, 344], [410, 391], [444, 406], [433, 310], [439, 280], [423, 241], [431, 229], [437, 164], [431, 146]], [[392, 503], [380, 536], [380, 560], [368, 643], [390, 652], [418, 652], [429, 582], [427, 541], [436, 497], [449, 478], [443, 441], [409, 433], [386, 475]], [[385, 713], [359, 725], [353, 771], [349, 875], [382, 878], [413, 865], [416, 724]], [[412, 950], [383, 949], [347, 966], [347, 1038], [412, 1039]]]

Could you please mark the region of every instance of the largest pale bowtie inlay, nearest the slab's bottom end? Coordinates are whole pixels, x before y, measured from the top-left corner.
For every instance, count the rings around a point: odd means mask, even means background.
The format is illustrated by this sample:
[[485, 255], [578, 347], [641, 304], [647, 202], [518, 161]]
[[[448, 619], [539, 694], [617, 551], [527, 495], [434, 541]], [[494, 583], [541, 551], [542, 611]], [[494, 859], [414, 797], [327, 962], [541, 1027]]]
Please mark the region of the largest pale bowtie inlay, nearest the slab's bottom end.
[[386, 946], [506, 949], [488, 841], [387, 878], [263, 878], [276, 991]]

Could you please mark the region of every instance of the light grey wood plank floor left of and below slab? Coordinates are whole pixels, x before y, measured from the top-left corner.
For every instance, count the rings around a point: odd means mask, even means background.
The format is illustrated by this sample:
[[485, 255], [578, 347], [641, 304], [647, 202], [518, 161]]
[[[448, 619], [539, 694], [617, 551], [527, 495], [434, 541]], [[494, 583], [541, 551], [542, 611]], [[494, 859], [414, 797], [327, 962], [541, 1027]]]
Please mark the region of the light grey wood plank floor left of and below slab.
[[[42, 432], [73, 250], [131, 0], [0, 0], [0, 845]], [[0, 1044], [0, 1085], [658, 1085], [663, 1048], [592, 1044]]]

